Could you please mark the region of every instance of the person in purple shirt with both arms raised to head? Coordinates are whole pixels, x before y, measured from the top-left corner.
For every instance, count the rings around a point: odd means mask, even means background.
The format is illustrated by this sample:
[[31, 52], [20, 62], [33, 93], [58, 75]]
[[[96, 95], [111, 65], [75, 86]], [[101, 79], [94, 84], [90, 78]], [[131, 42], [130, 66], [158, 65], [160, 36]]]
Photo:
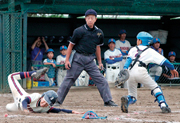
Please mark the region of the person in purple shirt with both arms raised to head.
[[[41, 47], [42, 41], [45, 45], [45, 48]], [[31, 63], [32, 65], [42, 65], [42, 59], [43, 59], [43, 54], [45, 53], [46, 50], [49, 49], [48, 45], [46, 44], [46, 41], [44, 37], [38, 37], [36, 41], [33, 43], [31, 46]], [[32, 70], [37, 70], [39, 67], [31, 67]]]

